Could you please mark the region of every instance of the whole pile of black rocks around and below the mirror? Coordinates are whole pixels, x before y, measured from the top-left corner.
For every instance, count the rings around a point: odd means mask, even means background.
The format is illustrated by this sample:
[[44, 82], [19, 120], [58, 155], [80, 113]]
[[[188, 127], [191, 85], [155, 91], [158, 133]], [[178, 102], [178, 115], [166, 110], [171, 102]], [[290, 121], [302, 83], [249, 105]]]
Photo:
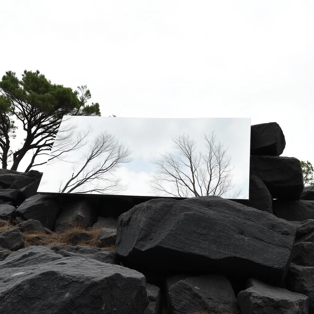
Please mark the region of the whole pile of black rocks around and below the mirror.
[[[251, 127], [249, 200], [39, 195], [41, 173], [0, 169], [0, 312], [314, 314], [314, 190], [284, 147]], [[73, 225], [98, 247], [24, 248]]]

